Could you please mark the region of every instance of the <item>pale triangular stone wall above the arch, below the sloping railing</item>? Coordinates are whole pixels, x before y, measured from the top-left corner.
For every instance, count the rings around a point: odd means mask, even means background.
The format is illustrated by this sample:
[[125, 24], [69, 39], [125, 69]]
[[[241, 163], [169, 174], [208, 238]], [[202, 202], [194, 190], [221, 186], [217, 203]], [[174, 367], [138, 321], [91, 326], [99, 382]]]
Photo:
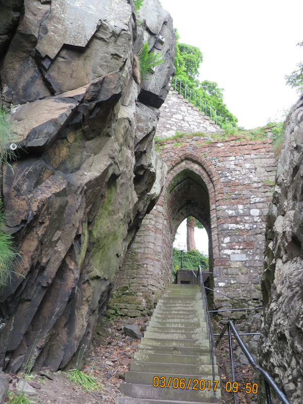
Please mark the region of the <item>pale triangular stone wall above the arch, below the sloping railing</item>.
[[183, 95], [179, 95], [172, 88], [159, 111], [161, 112], [157, 127], [159, 138], [174, 136], [176, 131], [207, 133], [221, 130], [215, 121], [211, 121], [204, 112], [200, 112], [194, 104], [190, 104], [188, 99], [184, 99]]

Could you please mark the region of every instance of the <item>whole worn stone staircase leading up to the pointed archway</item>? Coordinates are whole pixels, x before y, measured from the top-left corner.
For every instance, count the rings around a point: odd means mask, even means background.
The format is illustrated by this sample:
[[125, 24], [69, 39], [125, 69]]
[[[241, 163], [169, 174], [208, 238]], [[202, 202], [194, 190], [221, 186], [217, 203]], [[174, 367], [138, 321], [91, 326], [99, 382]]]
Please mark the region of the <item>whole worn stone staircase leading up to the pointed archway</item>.
[[[215, 366], [216, 380], [218, 367]], [[154, 379], [156, 377], [156, 379]], [[154, 387], [165, 378], [165, 387]], [[185, 379], [180, 388], [180, 379]], [[193, 380], [197, 379], [197, 390]], [[204, 382], [206, 381], [204, 390]], [[208, 391], [210, 382], [210, 391]], [[138, 346], [118, 404], [203, 404], [214, 402], [213, 370], [199, 285], [170, 285], [159, 300]], [[173, 387], [174, 386], [177, 388]], [[196, 383], [196, 382], [195, 382]], [[169, 386], [168, 386], [169, 384]], [[201, 384], [201, 389], [199, 389]], [[216, 401], [220, 402], [220, 382]]]

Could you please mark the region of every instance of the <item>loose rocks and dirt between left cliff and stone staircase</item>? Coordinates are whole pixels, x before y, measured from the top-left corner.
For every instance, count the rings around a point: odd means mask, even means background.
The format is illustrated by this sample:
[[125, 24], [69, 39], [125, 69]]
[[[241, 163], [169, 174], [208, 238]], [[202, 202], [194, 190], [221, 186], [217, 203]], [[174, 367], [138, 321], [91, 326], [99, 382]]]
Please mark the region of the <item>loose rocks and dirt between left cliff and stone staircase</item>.
[[[139, 339], [124, 335], [126, 324], [135, 324], [138, 329], [149, 317], [128, 319], [106, 319], [98, 325], [88, 356], [83, 360], [81, 370], [95, 376], [103, 388], [91, 393], [84, 392], [81, 387], [72, 383], [64, 371], [51, 372], [42, 368], [38, 373], [32, 373], [27, 379], [35, 395], [28, 396], [33, 404], [115, 404], [115, 397], [121, 396], [119, 387], [124, 383], [125, 372], [129, 370], [130, 361], [137, 350]], [[143, 327], [144, 328], [144, 327]], [[141, 331], [143, 332], [143, 331]], [[9, 390], [16, 392], [24, 375], [10, 374]], [[5, 402], [9, 402], [8, 397]]]

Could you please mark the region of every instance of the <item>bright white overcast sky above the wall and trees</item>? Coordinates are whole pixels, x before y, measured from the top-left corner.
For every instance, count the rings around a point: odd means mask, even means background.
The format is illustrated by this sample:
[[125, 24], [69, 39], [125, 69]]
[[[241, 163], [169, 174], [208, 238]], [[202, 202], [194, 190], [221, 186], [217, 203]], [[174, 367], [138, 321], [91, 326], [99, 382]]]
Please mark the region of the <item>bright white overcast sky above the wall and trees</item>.
[[180, 42], [199, 47], [202, 80], [224, 88], [224, 102], [245, 129], [281, 117], [298, 99], [285, 74], [303, 60], [302, 0], [161, 0]]

